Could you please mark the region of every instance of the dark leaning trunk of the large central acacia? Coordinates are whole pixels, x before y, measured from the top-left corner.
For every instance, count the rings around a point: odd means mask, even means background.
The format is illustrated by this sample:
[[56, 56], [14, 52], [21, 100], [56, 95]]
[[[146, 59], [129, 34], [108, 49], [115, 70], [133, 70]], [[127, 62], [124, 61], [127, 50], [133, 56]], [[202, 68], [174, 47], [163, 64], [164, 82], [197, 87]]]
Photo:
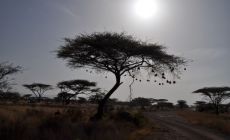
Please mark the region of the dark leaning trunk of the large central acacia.
[[101, 120], [104, 113], [104, 108], [109, 97], [117, 90], [117, 88], [122, 84], [120, 83], [120, 75], [116, 75], [116, 84], [110, 89], [110, 91], [105, 95], [105, 97], [99, 102], [97, 113], [91, 118], [91, 120]]

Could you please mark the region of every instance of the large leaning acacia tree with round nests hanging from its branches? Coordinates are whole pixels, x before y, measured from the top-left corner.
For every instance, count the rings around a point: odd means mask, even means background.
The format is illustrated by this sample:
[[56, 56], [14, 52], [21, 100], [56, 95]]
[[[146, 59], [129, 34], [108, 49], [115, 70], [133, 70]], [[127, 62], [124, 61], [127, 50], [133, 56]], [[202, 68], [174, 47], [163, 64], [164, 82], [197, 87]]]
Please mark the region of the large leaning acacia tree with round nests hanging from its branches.
[[116, 82], [98, 105], [94, 119], [101, 119], [109, 97], [123, 83], [124, 75], [135, 76], [143, 68], [149, 74], [169, 72], [179, 74], [185, 64], [181, 57], [169, 55], [165, 47], [136, 40], [124, 33], [81, 34], [74, 39], [66, 38], [57, 50], [57, 57], [67, 60], [71, 68], [91, 68], [98, 72], [110, 72]]

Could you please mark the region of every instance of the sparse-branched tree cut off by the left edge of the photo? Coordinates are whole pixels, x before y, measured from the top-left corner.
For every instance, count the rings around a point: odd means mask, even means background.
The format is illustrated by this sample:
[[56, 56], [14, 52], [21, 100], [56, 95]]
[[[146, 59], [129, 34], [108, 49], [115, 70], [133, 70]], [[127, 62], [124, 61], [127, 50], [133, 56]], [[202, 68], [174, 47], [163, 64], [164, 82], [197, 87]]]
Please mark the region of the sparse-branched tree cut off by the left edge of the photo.
[[22, 71], [22, 67], [7, 62], [0, 63], [0, 92], [8, 91], [10, 87], [9, 76]]

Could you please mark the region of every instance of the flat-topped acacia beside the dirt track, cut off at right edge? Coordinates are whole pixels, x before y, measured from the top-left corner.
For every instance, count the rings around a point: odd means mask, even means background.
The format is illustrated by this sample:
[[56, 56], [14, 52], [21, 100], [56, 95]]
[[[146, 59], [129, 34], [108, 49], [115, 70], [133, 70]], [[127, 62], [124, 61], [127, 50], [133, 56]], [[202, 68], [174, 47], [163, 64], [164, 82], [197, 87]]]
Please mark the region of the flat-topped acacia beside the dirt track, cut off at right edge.
[[230, 87], [204, 87], [193, 93], [201, 93], [201, 95], [207, 97], [215, 108], [216, 114], [219, 115], [221, 103], [230, 98]]

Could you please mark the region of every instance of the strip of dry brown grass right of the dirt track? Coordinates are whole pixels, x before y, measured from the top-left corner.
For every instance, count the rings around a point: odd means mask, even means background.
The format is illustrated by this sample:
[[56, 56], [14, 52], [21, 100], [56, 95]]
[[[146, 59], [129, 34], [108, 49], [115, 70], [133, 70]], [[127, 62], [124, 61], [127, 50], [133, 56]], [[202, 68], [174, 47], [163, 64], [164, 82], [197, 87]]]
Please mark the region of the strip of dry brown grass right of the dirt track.
[[202, 125], [230, 134], [230, 114], [217, 116], [211, 113], [193, 111], [178, 111], [177, 113], [192, 124]]

